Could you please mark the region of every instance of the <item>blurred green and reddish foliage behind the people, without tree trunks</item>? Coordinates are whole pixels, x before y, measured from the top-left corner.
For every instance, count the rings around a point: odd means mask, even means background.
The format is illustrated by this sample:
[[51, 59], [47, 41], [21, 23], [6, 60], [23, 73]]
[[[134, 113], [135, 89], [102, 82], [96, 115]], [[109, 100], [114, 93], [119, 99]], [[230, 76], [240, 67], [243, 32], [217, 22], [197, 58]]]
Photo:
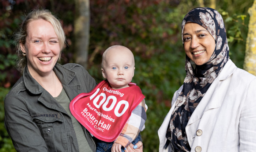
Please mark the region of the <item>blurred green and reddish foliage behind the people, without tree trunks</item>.
[[[248, 31], [248, 8], [253, 0], [216, 0], [225, 20], [230, 58], [242, 68]], [[210, 4], [204, 1], [204, 6]], [[185, 53], [181, 42], [181, 21], [196, 0], [90, 0], [90, 46], [88, 71], [102, 81], [101, 56], [109, 46], [120, 44], [135, 55], [133, 82], [141, 87], [148, 105], [146, 129], [141, 133], [144, 152], [157, 152], [157, 130], [170, 109], [174, 91], [185, 78]], [[75, 62], [73, 22], [74, 1], [9, 0], [0, 1], [0, 152], [15, 149], [4, 129], [3, 100], [20, 77], [15, 70], [12, 34], [24, 13], [46, 8], [60, 18], [67, 35], [62, 64]]]

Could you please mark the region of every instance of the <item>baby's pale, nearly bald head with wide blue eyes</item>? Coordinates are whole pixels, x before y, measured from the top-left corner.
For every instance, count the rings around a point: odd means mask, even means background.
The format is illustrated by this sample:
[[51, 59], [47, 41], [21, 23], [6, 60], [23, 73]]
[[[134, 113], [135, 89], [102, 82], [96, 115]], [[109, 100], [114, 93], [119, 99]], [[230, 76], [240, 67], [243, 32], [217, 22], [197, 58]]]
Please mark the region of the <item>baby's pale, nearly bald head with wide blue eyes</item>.
[[135, 63], [132, 52], [123, 46], [114, 46], [103, 57], [102, 75], [112, 89], [129, 87], [134, 75]]

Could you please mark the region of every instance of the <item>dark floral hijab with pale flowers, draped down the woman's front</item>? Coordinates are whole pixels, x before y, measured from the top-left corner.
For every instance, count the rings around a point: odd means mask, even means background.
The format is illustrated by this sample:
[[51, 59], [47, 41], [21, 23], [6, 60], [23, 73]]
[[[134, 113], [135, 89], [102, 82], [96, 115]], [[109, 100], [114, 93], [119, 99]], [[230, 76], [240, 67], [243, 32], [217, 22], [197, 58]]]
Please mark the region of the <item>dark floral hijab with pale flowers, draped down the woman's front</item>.
[[[185, 127], [196, 106], [229, 59], [226, 29], [219, 12], [206, 7], [192, 9], [182, 20], [182, 34], [187, 22], [197, 23], [206, 28], [215, 40], [215, 50], [207, 63], [196, 65], [195, 68], [186, 55], [183, 89], [177, 98], [166, 132], [168, 140], [165, 148], [171, 143], [172, 152], [191, 151]], [[182, 42], [184, 44], [183, 37]]]

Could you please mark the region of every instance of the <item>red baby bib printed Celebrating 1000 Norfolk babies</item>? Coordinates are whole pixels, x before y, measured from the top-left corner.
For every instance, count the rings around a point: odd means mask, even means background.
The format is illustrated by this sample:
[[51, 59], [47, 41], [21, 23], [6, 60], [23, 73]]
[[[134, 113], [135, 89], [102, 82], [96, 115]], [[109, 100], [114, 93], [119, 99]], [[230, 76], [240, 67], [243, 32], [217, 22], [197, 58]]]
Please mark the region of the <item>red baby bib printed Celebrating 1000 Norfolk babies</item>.
[[112, 89], [107, 80], [91, 92], [80, 93], [69, 105], [72, 115], [97, 139], [112, 142], [121, 133], [132, 110], [145, 98], [135, 83]]

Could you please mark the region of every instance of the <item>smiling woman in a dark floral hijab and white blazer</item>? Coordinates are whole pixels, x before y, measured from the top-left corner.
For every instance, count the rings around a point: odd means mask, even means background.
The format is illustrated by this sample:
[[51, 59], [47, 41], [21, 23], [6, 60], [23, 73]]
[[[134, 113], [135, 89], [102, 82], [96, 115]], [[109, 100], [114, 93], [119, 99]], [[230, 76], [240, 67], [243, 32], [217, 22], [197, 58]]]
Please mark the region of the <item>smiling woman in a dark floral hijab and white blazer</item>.
[[192, 9], [182, 20], [186, 77], [158, 130], [159, 152], [253, 152], [256, 77], [229, 59], [219, 12]]

